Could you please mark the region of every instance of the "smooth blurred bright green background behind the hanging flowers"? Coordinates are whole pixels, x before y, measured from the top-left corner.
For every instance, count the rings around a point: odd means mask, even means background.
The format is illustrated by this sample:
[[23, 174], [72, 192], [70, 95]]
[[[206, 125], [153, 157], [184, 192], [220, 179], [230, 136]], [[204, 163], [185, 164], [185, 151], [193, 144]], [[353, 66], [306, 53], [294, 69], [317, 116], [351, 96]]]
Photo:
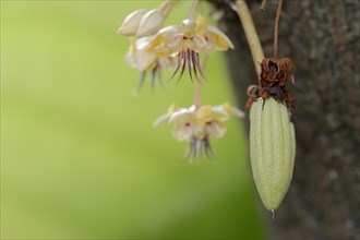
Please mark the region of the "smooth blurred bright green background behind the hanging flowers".
[[[140, 74], [116, 31], [158, 3], [1, 1], [2, 239], [263, 238], [248, 120], [212, 141], [217, 164], [190, 165], [188, 144], [152, 122], [171, 103], [190, 106], [194, 84], [131, 94]], [[208, 59], [203, 104], [235, 103], [223, 58]]]

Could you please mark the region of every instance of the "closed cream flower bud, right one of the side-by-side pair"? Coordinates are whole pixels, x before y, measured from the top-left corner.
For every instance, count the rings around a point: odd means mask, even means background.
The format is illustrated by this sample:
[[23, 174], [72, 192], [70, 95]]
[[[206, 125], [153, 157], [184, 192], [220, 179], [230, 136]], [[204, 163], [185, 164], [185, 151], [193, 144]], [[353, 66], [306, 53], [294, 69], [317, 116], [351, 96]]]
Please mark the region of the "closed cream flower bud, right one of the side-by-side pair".
[[139, 24], [136, 32], [137, 37], [146, 37], [156, 34], [165, 21], [164, 13], [158, 9], [148, 11]]

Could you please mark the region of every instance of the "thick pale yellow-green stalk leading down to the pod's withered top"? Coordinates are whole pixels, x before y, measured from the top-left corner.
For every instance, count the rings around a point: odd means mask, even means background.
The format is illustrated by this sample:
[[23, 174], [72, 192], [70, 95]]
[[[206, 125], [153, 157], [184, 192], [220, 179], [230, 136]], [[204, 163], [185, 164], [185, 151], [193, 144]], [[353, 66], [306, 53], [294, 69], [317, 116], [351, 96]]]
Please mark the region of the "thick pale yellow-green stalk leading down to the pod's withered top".
[[250, 14], [247, 2], [244, 0], [237, 0], [236, 8], [248, 39], [252, 60], [254, 62], [255, 70], [259, 76], [259, 85], [260, 85], [260, 74], [261, 74], [260, 63], [265, 58], [264, 51], [261, 46], [259, 35], [256, 33], [254, 22], [252, 21], [252, 16]]

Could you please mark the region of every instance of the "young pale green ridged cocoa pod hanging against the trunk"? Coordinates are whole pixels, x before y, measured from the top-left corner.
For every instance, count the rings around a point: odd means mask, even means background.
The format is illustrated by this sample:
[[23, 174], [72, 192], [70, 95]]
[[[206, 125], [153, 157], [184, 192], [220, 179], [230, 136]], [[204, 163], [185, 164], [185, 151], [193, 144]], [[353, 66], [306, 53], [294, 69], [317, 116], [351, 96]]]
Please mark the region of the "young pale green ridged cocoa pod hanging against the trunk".
[[250, 158], [257, 192], [269, 211], [279, 207], [289, 189], [295, 155], [287, 107], [272, 97], [259, 98], [250, 110]]

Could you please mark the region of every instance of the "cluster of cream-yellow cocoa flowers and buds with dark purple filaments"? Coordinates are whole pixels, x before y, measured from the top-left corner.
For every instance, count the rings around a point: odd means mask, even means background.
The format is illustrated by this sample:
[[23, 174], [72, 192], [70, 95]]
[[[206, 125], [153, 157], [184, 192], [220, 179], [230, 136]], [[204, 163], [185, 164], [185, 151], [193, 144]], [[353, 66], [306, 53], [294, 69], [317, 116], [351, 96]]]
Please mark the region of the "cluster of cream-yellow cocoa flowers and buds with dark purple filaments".
[[[205, 17], [197, 20], [185, 19], [180, 25], [163, 27], [163, 24], [178, 1], [166, 1], [152, 10], [136, 10], [123, 21], [118, 34], [131, 36], [128, 63], [137, 69], [141, 89], [146, 75], [151, 74], [152, 86], [158, 79], [161, 84], [161, 70], [173, 71], [171, 79], [179, 73], [179, 80], [188, 69], [190, 79], [193, 76], [201, 86], [204, 76], [199, 55], [213, 51], [225, 51], [233, 48], [231, 40], [217, 27], [206, 23]], [[161, 116], [154, 125], [168, 120], [173, 124], [173, 136], [179, 141], [189, 141], [187, 157], [195, 157], [204, 151], [207, 156], [213, 154], [209, 139], [221, 137], [226, 128], [224, 121], [235, 115], [243, 117], [243, 112], [228, 104], [220, 106], [197, 106], [176, 108], [173, 105]]]

